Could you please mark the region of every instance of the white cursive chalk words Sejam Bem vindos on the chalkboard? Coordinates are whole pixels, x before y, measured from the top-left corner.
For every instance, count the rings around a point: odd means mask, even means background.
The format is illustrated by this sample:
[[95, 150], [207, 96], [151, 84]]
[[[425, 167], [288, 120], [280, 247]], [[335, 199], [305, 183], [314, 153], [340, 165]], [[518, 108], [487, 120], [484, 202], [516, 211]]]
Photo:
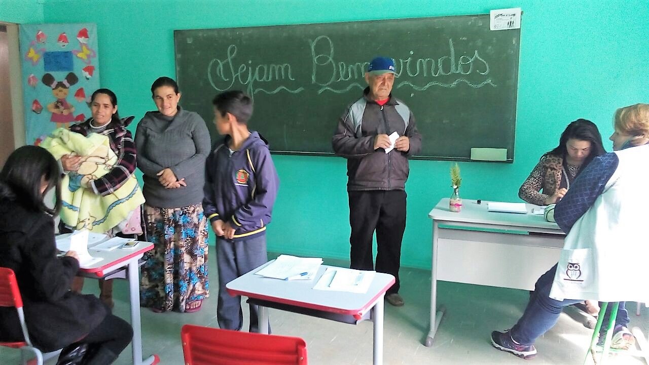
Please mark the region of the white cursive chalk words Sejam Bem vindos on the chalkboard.
[[[352, 88], [365, 88], [364, 82], [367, 62], [346, 63], [337, 61], [335, 58], [335, 45], [328, 36], [318, 36], [308, 40], [311, 51], [311, 80], [296, 80], [294, 70], [304, 65], [281, 64], [254, 64], [252, 60], [241, 62], [237, 58], [238, 48], [234, 44], [228, 45], [223, 58], [214, 58], [208, 64], [207, 77], [217, 91], [225, 91], [235, 84], [245, 86], [249, 95], [263, 92], [275, 94], [280, 91], [288, 93], [300, 93], [305, 90], [304, 86], [309, 84], [320, 86], [318, 94], [324, 91], [332, 93], [346, 93]], [[397, 66], [397, 77], [408, 77], [408, 80], [399, 82], [397, 88], [410, 86], [413, 91], [425, 91], [432, 86], [442, 88], [455, 88], [460, 83], [465, 83], [471, 88], [482, 88], [484, 86], [496, 87], [489, 75], [489, 64], [480, 56], [478, 50], [472, 50], [472, 56], [463, 54], [456, 55], [455, 45], [452, 39], [448, 39], [448, 49], [443, 56], [437, 58], [415, 57], [415, 51], [410, 51], [407, 58], [395, 58]], [[426, 78], [438, 78], [449, 75], [462, 75], [456, 80], [447, 82]], [[480, 75], [483, 80], [469, 80], [469, 75]], [[419, 85], [413, 82], [412, 78], [422, 80]], [[349, 84], [344, 84], [349, 82]], [[263, 88], [259, 85], [273, 83], [270, 88]], [[279, 86], [277, 86], [279, 83]], [[288, 84], [293, 86], [288, 86]]]

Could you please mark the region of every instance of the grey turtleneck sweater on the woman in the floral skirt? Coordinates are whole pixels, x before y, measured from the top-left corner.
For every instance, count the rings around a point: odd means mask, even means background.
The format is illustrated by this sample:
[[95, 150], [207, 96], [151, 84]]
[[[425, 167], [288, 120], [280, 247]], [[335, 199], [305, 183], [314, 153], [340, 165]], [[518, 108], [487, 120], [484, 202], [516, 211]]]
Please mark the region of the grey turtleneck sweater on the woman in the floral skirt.
[[[177, 208], [202, 202], [210, 133], [200, 115], [180, 106], [173, 117], [147, 112], [138, 123], [135, 144], [149, 206]], [[167, 167], [178, 180], [184, 178], [187, 186], [165, 189], [156, 174]]]

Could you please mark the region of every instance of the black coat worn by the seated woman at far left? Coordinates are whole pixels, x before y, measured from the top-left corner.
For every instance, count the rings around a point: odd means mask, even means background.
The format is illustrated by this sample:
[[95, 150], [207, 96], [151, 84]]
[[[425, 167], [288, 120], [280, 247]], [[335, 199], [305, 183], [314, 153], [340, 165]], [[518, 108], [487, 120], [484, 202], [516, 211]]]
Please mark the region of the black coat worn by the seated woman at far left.
[[[97, 327], [108, 309], [95, 296], [69, 290], [79, 262], [56, 257], [53, 218], [3, 191], [8, 188], [0, 183], [0, 266], [16, 273], [34, 346], [60, 349]], [[0, 307], [0, 340], [23, 340], [13, 308]]]

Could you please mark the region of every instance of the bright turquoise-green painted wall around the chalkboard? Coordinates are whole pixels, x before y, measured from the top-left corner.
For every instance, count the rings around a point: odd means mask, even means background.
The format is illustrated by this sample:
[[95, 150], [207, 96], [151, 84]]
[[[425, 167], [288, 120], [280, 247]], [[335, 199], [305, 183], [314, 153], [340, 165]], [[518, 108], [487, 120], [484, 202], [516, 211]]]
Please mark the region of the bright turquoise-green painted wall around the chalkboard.
[[[161, 75], [175, 75], [174, 29], [479, 14], [520, 6], [524, 15], [515, 162], [460, 163], [464, 198], [517, 201], [520, 183], [539, 156], [556, 146], [567, 123], [591, 119], [607, 137], [616, 108], [649, 102], [646, 0], [452, 3], [458, 2], [47, 0], [43, 16], [48, 23], [97, 23], [101, 84], [116, 91], [123, 115], [139, 118], [154, 108], [151, 82]], [[335, 123], [332, 119], [332, 129]], [[605, 145], [611, 149], [610, 143]], [[269, 250], [349, 257], [345, 160], [273, 159], [282, 184], [269, 226]], [[411, 162], [404, 266], [430, 267], [428, 212], [440, 198], [450, 196], [449, 165], [447, 161]]]

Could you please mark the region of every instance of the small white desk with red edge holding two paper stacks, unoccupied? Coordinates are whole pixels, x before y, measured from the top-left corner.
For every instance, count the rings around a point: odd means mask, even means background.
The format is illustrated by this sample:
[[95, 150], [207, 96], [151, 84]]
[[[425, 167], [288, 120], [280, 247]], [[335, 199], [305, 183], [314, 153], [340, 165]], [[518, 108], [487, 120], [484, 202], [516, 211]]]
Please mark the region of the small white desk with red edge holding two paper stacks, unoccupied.
[[259, 305], [260, 333], [268, 333], [268, 308], [358, 324], [371, 318], [374, 322], [374, 365], [383, 364], [383, 297], [395, 283], [395, 277], [377, 272], [367, 292], [351, 293], [316, 290], [313, 285], [326, 270], [321, 265], [312, 280], [280, 280], [254, 273], [273, 261], [240, 276], [225, 287], [231, 296], [247, 296]]

